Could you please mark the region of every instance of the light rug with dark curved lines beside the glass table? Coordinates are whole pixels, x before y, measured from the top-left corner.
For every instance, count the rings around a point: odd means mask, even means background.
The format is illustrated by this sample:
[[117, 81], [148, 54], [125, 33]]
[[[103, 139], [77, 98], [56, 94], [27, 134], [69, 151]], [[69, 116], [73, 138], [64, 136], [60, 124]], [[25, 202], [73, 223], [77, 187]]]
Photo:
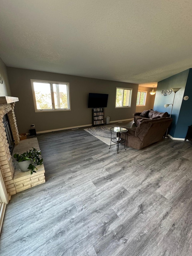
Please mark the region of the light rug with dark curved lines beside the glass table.
[[[88, 133], [92, 134], [99, 140], [103, 141], [107, 145], [113, 145], [116, 144], [114, 142], [111, 142], [111, 130], [110, 128], [116, 127], [117, 125], [104, 125], [104, 126], [96, 126], [96, 127], [90, 127], [87, 129], [84, 129]], [[116, 137], [116, 132], [112, 132], [112, 138]]]

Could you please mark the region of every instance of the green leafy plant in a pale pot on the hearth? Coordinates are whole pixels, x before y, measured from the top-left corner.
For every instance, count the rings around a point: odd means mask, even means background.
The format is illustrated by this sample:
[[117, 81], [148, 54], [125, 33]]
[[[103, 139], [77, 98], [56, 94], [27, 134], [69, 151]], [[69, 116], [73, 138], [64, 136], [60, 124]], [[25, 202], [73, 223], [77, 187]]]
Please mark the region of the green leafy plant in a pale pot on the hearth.
[[30, 149], [29, 152], [24, 152], [23, 154], [14, 154], [14, 158], [18, 162], [19, 168], [22, 172], [30, 170], [30, 174], [36, 173], [36, 165], [43, 164], [43, 158], [41, 158], [41, 150], [35, 148]]

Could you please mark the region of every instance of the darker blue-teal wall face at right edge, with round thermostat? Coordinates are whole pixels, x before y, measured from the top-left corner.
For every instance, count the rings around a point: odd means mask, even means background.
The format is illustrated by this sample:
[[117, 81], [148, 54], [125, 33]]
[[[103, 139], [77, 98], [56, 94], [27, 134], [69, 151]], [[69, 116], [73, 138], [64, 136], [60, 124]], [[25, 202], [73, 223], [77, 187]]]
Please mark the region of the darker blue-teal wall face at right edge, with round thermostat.
[[182, 101], [174, 133], [175, 138], [185, 138], [188, 126], [192, 125], [192, 68], [189, 69], [184, 96], [188, 96], [189, 99]]

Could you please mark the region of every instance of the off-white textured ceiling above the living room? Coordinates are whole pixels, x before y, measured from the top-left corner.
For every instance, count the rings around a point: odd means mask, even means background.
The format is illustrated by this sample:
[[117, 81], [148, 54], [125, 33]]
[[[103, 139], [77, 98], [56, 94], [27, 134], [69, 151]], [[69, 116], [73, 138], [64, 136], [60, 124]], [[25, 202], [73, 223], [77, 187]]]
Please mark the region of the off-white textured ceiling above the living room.
[[7, 66], [132, 83], [192, 67], [190, 0], [1, 0]]

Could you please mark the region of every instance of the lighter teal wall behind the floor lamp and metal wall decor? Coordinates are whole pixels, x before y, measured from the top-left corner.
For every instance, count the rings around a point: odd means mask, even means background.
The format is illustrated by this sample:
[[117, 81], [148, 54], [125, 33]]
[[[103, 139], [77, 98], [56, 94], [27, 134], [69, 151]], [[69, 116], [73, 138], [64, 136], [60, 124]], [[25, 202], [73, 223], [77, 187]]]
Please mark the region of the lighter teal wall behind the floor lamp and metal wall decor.
[[[168, 77], [158, 82], [153, 109], [159, 112], [167, 111], [170, 114], [172, 106], [170, 105], [169, 107], [165, 108], [164, 104], [172, 104], [173, 98], [174, 98], [174, 92], [172, 92], [170, 95], [164, 96], [161, 94], [162, 90], [165, 91], [165, 90], [169, 90], [170, 88], [181, 87], [181, 89], [178, 92], [176, 92], [173, 110], [171, 114], [171, 117], [173, 118], [173, 123], [169, 129], [169, 134], [172, 137], [177, 136], [177, 138], [185, 138], [185, 135], [186, 135], [186, 133], [184, 135], [184, 131], [182, 131], [182, 128], [180, 127], [181, 124], [180, 122], [178, 123], [178, 121], [179, 121], [180, 110], [182, 108], [183, 96], [186, 88], [189, 71], [190, 69], [187, 69], [185, 71], [180, 72], [179, 74]], [[190, 99], [190, 102], [192, 102], [192, 97]], [[188, 110], [186, 111], [188, 112]], [[176, 132], [176, 135], [175, 135], [175, 132]]]

